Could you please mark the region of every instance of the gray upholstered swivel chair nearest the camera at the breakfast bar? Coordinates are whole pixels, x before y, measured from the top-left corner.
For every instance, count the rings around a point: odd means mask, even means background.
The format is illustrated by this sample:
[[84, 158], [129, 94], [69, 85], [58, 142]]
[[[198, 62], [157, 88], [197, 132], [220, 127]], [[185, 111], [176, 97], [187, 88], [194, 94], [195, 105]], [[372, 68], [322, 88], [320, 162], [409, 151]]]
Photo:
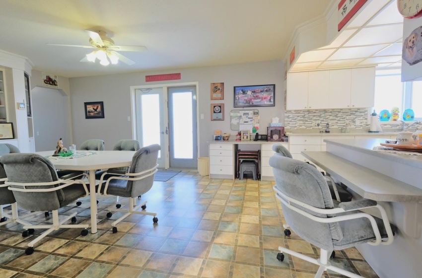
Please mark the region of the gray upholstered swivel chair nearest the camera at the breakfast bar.
[[[273, 155], [269, 163], [276, 179], [274, 191], [287, 224], [303, 240], [321, 249], [319, 260], [285, 247], [279, 247], [281, 253], [277, 258], [283, 261], [283, 253], [287, 253], [319, 265], [316, 278], [322, 277], [327, 269], [347, 277], [361, 278], [332, 266], [328, 256], [333, 250], [363, 243], [391, 244], [396, 227], [390, 225], [385, 210], [368, 199], [335, 205], [321, 172], [303, 161]], [[370, 207], [378, 209], [382, 219], [359, 210]]]

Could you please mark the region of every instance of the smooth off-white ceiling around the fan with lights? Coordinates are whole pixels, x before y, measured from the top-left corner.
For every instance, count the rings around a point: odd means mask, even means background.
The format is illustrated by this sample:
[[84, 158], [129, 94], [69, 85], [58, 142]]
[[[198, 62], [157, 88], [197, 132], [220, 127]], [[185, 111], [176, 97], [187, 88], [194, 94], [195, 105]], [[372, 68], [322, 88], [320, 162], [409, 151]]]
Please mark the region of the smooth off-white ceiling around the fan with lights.
[[[332, 0], [1, 0], [0, 50], [34, 69], [75, 77], [282, 60], [297, 25], [320, 17]], [[306, 6], [306, 8], [298, 7]], [[136, 62], [79, 62], [92, 49], [84, 29], [103, 30]]]

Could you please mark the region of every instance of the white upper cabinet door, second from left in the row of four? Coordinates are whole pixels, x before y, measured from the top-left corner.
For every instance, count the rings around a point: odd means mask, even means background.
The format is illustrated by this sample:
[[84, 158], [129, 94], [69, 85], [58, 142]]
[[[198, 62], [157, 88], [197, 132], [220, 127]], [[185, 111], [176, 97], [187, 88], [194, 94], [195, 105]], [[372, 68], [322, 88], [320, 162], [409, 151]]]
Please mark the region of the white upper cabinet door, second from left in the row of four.
[[328, 107], [329, 70], [308, 72], [308, 109]]

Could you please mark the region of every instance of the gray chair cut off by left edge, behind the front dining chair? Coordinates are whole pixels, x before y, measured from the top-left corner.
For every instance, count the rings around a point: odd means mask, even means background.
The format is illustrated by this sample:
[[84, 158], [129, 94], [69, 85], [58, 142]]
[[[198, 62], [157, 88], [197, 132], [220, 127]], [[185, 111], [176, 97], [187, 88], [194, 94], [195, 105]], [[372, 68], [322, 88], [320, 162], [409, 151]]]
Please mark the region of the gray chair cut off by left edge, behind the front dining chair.
[[[19, 149], [12, 144], [0, 144], [0, 156], [7, 153], [19, 153]], [[22, 218], [32, 216], [39, 212], [31, 212], [19, 217], [17, 212], [16, 200], [13, 196], [13, 193], [7, 189], [8, 185], [4, 184], [7, 181], [6, 172], [4, 172], [3, 164], [0, 163], [0, 226], [8, 224], [10, 222], [18, 222], [22, 225], [29, 225], [29, 223], [21, 220]], [[12, 214], [9, 215], [4, 213], [3, 205], [10, 205], [12, 209]], [[29, 230], [30, 233], [33, 233], [34, 230]]]

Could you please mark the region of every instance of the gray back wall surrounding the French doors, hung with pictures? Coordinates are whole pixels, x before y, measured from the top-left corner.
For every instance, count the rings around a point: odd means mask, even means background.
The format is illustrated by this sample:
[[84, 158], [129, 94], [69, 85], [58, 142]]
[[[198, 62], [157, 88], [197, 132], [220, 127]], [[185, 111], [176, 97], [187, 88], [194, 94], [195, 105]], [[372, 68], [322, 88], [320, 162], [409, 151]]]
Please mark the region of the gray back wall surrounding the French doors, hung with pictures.
[[[112, 67], [112, 65], [110, 65]], [[110, 67], [109, 66], [109, 67]], [[181, 73], [180, 80], [162, 82], [145, 82], [145, 75], [163, 73]], [[233, 86], [276, 84], [275, 107], [258, 107], [260, 114], [260, 130], [266, 134], [271, 118], [284, 115], [283, 61], [269, 61], [248, 64], [236, 64], [215, 67], [190, 69], [174, 69], [165, 71], [134, 72], [115, 75], [70, 78], [72, 133], [76, 147], [87, 139], [105, 140], [105, 148], [111, 149], [120, 139], [131, 139], [131, 95], [130, 86], [147, 84], [166, 84], [178, 82], [198, 82], [199, 114], [199, 146], [198, 156], [208, 156], [208, 141], [214, 130], [231, 133], [230, 111], [233, 109]], [[224, 100], [211, 101], [210, 84], [224, 82]], [[83, 103], [104, 101], [104, 119], [85, 119]], [[211, 103], [224, 103], [224, 121], [211, 121]], [[236, 108], [238, 109], [238, 108]], [[200, 118], [200, 117], [198, 117]], [[233, 137], [231, 139], [233, 139]]]

